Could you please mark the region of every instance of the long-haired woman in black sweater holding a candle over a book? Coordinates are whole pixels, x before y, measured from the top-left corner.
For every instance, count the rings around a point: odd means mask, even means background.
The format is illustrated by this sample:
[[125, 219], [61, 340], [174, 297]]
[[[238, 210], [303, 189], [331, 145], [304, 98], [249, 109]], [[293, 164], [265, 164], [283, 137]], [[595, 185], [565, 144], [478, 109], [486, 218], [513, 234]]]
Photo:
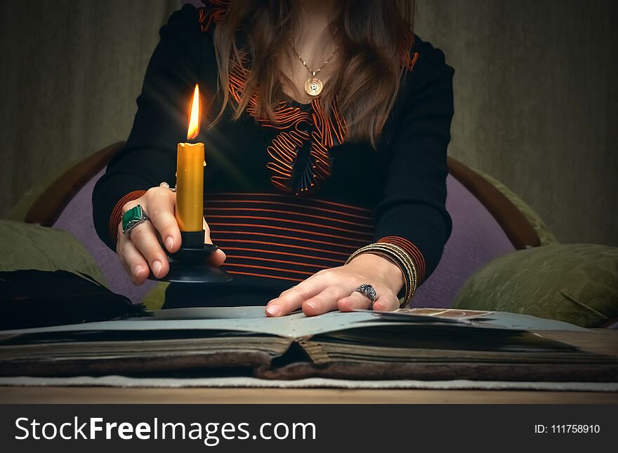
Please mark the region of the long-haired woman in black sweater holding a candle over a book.
[[[166, 275], [180, 248], [166, 183], [198, 83], [206, 242], [234, 274], [202, 302], [270, 299], [268, 316], [408, 304], [451, 229], [442, 52], [412, 34], [407, 1], [204, 3], [161, 30], [129, 140], [93, 194], [100, 237], [133, 283]], [[149, 221], [123, 231], [136, 205]]]

